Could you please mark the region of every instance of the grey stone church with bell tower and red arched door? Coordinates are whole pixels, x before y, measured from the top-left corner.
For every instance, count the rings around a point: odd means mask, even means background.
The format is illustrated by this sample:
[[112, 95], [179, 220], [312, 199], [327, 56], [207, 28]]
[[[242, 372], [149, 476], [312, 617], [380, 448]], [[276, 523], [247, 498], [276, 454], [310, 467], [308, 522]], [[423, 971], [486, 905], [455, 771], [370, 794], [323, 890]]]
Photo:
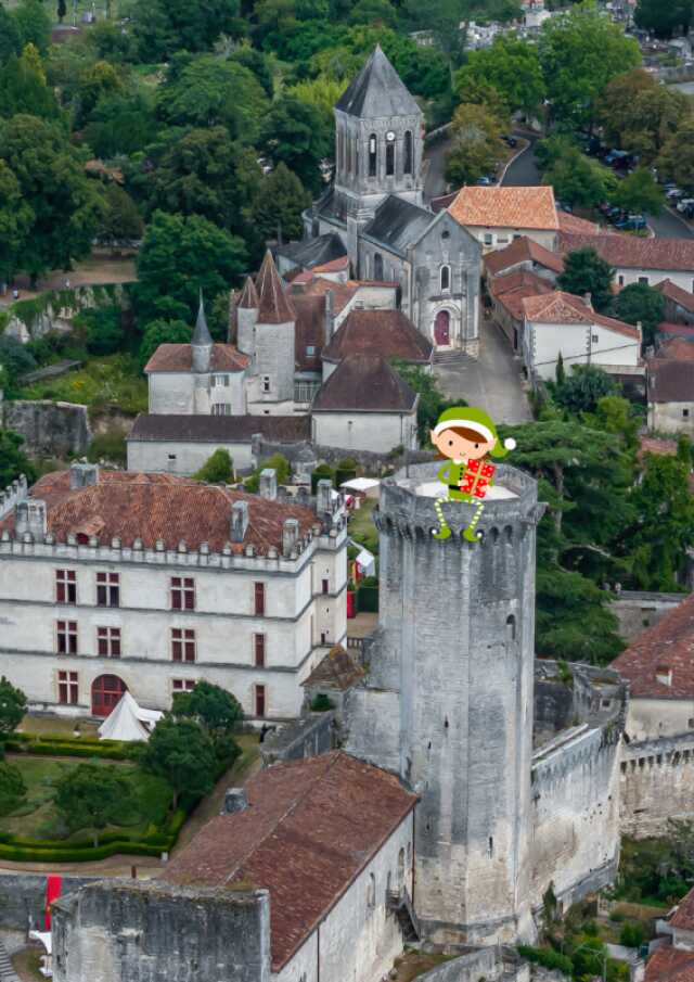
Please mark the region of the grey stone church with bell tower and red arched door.
[[479, 243], [424, 202], [424, 116], [377, 47], [335, 106], [335, 179], [304, 216], [280, 271], [347, 254], [356, 279], [398, 285], [436, 352], [479, 348]]

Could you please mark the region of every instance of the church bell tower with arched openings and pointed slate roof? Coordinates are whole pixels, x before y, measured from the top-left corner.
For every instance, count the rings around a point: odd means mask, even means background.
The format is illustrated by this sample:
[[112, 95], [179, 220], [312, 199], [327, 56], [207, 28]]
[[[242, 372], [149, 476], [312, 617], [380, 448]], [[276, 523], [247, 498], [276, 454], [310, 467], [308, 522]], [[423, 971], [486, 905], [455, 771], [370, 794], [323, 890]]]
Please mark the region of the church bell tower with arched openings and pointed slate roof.
[[377, 46], [335, 106], [335, 193], [367, 221], [387, 194], [422, 204], [424, 117]]

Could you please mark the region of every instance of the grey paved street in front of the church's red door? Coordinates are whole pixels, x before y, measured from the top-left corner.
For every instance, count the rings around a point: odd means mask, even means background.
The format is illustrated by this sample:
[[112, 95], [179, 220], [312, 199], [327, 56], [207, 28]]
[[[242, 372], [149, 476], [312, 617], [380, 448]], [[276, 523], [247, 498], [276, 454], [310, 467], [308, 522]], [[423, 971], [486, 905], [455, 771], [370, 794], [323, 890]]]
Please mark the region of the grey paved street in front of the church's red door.
[[520, 361], [493, 321], [480, 318], [479, 359], [460, 365], [436, 365], [434, 373], [450, 399], [462, 397], [485, 409], [497, 423], [524, 423], [532, 419], [524, 391]]

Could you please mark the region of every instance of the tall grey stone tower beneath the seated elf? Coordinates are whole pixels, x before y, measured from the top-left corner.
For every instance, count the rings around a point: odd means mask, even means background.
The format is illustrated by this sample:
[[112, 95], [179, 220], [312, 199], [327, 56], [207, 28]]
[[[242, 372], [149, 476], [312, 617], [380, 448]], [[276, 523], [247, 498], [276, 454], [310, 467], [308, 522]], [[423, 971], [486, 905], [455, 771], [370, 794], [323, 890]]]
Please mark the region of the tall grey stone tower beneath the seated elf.
[[530, 767], [537, 486], [498, 469], [481, 544], [473, 506], [444, 506], [438, 464], [384, 482], [380, 627], [350, 692], [349, 750], [420, 795], [414, 905], [436, 941], [532, 936]]

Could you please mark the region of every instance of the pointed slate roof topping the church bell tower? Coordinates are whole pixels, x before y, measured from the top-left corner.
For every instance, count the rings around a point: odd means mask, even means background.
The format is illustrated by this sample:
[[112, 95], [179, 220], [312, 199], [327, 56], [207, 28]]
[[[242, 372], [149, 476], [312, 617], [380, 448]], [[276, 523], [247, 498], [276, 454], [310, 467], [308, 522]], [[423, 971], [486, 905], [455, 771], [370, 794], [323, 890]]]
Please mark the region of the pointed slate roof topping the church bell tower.
[[385, 116], [421, 116], [422, 110], [404, 87], [381, 44], [337, 100], [336, 110], [361, 119]]

